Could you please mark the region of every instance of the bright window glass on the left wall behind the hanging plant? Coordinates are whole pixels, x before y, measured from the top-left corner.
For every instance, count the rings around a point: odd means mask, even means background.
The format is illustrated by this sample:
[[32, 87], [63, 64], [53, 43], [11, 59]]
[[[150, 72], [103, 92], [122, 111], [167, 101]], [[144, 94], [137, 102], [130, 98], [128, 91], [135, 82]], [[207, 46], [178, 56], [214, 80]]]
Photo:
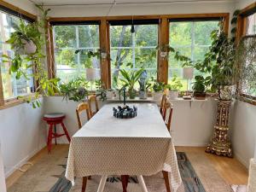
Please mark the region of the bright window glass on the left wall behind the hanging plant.
[[[18, 24], [20, 22], [20, 18], [6, 14], [0, 11], [0, 32], [1, 32], [1, 40], [0, 40], [0, 51], [1, 55], [9, 55], [11, 57], [14, 56], [14, 51], [10, 49], [10, 45], [6, 44], [6, 40], [9, 39], [11, 32], [15, 32], [13, 28], [13, 24]], [[26, 21], [27, 22], [27, 21]], [[27, 80], [25, 78], [15, 79], [15, 74], [9, 74], [9, 66], [10, 63], [3, 63], [0, 61], [1, 65], [1, 76], [3, 83], [3, 97], [5, 100], [16, 96], [24, 96], [32, 92], [34, 89], [33, 79]], [[28, 73], [32, 73], [32, 69], [28, 71]]]

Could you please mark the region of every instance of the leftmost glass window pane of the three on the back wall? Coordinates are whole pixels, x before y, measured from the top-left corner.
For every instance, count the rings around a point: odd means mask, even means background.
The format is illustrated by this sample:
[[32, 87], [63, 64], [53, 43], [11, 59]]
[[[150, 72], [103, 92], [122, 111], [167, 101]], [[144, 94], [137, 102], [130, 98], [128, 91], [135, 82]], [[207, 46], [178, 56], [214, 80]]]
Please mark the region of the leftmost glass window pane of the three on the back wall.
[[[93, 79], [100, 79], [100, 61], [90, 57], [100, 47], [98, 25], [60, 25], [53, 27], [56, 77], [68, 82], [86, 77], [86, 68], [95, 68]], [[76, 53], [76, 50], [82, 50]], [[89, 77], [87, 77], [89, 78]]]

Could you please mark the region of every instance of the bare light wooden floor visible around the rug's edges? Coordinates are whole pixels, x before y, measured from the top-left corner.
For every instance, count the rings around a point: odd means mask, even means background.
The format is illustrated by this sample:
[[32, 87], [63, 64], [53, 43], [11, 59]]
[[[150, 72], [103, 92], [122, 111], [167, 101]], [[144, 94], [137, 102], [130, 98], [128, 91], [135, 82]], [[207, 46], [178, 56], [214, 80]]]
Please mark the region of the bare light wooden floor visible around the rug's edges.
[[[68, 145], [54, 145], [52, 153], [55, 150], [67, 150]], [[183, 152], [195, 152], [200, 154], [205, 154], [207, 158], [212, 163], [212, 166], [218, 171], [219, 175], [224, 178], [226, 183], [229, 184], [247, 184], [248, 172], [245, 166], [242, 166], [241, 163], [236, 159], [231, 159], [227, 157], [218, 157], [213, 154], [205, 153], [205, 148], [192, 148], [192, 147], [176, 147], [177, 151]], [[43, 148], [38, 154], [32, 157], [29, 162], [36, 164], [40, 158], [47, 155], [47, 148]], [[30, 166], [23, 166], [23, 169], [29, 169]], [[24, 174], [23, 172], [16, 171], [6, 180], [7, 189], [19, 179], [19, 177]]]

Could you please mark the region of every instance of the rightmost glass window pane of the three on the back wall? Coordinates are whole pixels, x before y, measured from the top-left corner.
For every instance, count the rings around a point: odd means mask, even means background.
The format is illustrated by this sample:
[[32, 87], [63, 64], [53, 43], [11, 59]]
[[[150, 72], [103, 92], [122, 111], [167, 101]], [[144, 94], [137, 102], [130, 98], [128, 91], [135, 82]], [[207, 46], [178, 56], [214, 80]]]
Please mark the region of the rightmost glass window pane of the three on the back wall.
[[[182, 55], [186, 55], [192, 61], [202, 60], [212, 44], [211, 32], [218, 29], [218, 20], [212, 21], [171, 21], [169, 32], [169, 44], [177, 49]], [[194, 76], [199, 72], [194, 72]], [[188, 81], [183, 79], [183, 68], [181, 63], [174, 59], [174, 54], [169, 56], [170, 82], [173, 76], [177, 76], [183, 84], [181, 90], [187, 90]], [[189, 82], [191, 89], [191, 82]]]

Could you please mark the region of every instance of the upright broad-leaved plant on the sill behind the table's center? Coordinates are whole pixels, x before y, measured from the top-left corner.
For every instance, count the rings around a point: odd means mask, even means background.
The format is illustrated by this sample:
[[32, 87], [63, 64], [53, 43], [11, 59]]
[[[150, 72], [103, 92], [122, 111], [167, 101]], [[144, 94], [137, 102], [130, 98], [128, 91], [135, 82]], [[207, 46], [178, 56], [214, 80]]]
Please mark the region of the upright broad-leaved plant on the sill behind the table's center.
[[136, 97], [136, 90], [134, 89], [135, 84], [138, 79], [140, 79], [144, 69], [141, 68], [137, 71], [132, 70], [131, 72], [126, 71], [125, 69], [121, 69], [120, 73], [123, 76], [123, 79], [120, 79], [123, 82], [123, 86], [128, 88], [128, 94], [130, 99], [134, 99]]

